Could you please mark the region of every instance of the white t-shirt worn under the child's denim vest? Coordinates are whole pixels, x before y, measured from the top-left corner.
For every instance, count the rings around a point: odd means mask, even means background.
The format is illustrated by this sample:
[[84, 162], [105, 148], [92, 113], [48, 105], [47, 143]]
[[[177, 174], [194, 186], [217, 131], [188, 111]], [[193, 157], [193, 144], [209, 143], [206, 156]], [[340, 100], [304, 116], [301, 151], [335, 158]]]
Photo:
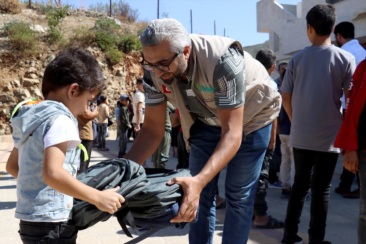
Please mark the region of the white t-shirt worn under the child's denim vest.
[[[44, 137], [45, 148], [50, 147], [62, 142], [67, 143], [67, 150], [79, 146], [79, 130], [76, 128], [74, 122], [67, 115], [60, 115], [51, 124], [48, 132]], [[14, 145], [18, 148], [18, 145]], [[31, 222], [63, 222], [70, 218], [63, 219], [49, 219], [49, 220], [29, 220], [23, 219], [25, 221]]]

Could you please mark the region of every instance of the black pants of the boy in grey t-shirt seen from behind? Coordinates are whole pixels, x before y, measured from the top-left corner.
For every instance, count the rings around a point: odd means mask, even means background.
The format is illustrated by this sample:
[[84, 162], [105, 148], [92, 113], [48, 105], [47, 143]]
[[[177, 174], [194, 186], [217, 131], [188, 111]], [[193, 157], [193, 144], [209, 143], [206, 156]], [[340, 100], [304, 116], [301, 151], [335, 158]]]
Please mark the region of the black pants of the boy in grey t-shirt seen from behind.
[[301, 211], [311, 188], [309, 241], [324, 240], [330, 181], [337, 159], [338, 153], [294, 148], [295, 179], [288, 199], [285, 232], [298, 232]]

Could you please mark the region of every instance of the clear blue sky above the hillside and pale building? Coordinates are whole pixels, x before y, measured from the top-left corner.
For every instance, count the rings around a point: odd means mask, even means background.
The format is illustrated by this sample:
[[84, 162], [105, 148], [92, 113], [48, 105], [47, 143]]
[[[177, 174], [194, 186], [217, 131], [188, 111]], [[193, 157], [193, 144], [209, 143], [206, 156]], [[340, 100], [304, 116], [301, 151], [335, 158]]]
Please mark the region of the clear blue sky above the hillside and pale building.
[[[117, 0], [112, 0], [112, 2]], [[119, 0], [118, 0], [119, 1]], [[270, 0], [268, 0], [270, 1]], [[301, 0], [278, 0], [280, 4], [296, 5]], [[139, 19], [150, 22], [157, 19], [157, 0], [124, 0], [132, 9], [138, 9]], [[269, 40], [268, 33], [257, 32], [258, 0], [160, 0], [159, 18], [163, 12], [169, 18], [181, 22], [191, 33], [216, 35], [233, 38], [243, 46], [261, 44]], [[97, 3], [109, 4], [109, 0], [61, 0], [63, 4], [84, 7]]]

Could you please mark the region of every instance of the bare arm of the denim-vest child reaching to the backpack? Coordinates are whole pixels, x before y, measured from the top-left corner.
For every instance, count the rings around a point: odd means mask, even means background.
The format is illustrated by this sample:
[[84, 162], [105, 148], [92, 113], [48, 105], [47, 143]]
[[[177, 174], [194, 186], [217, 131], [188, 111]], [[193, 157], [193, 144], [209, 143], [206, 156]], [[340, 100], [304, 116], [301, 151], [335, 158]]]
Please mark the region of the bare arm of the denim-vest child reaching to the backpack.
[[101, 211], [113, 214], [121, 207], [124, 198], [115, 191], [119, 188], [99, 191], [76, 180], [64, 168], [67, 143], [45, 148], [43, 162], [44, 182], [63, 194], [94, 204]]

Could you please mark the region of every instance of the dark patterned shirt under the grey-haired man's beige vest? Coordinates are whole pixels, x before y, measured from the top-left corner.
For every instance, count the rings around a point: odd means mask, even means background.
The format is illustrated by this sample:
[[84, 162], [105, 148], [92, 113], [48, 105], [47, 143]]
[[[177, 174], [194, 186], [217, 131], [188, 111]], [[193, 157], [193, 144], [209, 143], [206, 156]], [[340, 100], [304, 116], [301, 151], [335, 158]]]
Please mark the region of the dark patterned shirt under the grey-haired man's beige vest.
[[[190, 55], [189, 63], [194, 63], [192, 55]], [[192, 78], [192, 66], [188, 70], [187, 81], [181, 80], [177, 82], [184, 105], [189, 112], [194, 113], [203, 123], [221, 127], [219, 118], [202, 104], [192, 90], [192, 82], [197, 82]], [[164, 93], [156, 89], [150, 78], [149, 71], [145, 71], [143, 84], [146, 106], [158, 105], [167, 99]], [[200, 86], [198, 83], [195, 83], [194, 87], [198, 91], [204, 89], [208, 92], [214, 92], [217, 109], [232, 109], [242, 106], [245, 99], [245, 64], [243, 54], [234, 45], [230, 46], [216, 64], [213, 74], [213, 87]]]

